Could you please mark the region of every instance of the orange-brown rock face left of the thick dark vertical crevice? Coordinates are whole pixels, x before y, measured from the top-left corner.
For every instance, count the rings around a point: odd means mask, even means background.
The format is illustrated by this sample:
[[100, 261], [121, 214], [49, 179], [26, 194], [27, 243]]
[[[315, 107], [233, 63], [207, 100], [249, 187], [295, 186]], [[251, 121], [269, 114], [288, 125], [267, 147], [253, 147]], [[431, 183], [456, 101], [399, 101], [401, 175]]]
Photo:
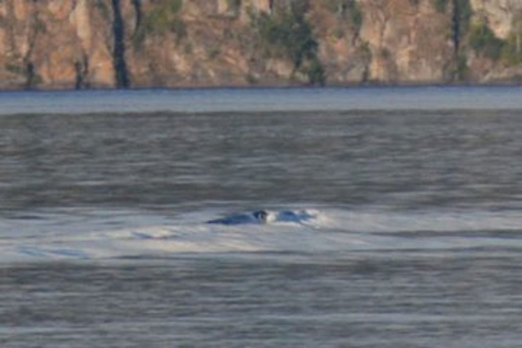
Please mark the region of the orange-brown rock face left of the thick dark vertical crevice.
[[0, 3], [0, 88], [112, 87], [111, 13], [94, 3]]

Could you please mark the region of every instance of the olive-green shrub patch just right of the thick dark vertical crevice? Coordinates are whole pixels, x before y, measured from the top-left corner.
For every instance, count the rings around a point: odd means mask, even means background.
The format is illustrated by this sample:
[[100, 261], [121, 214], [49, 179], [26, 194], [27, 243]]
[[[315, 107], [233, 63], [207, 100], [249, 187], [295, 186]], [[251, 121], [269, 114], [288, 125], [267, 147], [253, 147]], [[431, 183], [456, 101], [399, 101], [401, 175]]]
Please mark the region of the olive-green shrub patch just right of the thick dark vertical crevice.
[[186, 25], [179, 15], [182, 7], [182, 0], [163, 0], [161, 4], [146, 13], [134, 34], [134, 46], [140, 47], [148, 35], [162, 35], [169, 31], [176, 34], [177, 40], [185, 38]]

